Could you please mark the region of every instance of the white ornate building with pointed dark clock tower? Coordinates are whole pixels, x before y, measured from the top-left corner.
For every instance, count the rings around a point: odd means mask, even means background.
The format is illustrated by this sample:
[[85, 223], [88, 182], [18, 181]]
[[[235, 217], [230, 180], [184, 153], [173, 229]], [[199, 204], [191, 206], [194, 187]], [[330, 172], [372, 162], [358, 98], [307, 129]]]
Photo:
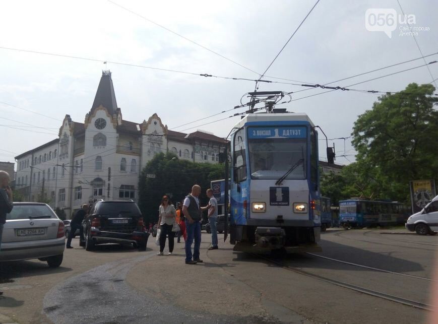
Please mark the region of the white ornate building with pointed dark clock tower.
[[16, 188], [26, 200], [49, 201], [67, 216], [94, 199], [138, 199], [141, 169], [159, 152], [193, 162], [219, 162], [225, 140], [211, 133], [170, 131], [154, 113], [122, 118], [111, 73], [103, 71], [83, 123], [66, 115], [58, 138], [16, 157]]

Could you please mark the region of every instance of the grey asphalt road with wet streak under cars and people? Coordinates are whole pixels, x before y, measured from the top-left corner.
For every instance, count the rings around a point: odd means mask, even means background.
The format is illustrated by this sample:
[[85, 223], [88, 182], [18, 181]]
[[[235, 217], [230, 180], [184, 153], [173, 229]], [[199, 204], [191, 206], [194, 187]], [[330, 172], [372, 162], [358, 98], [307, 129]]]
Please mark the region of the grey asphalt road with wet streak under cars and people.
[[[327, 231], [322, 234], [323, 252], [318, 254], [394, 273], [308, 254], [281, 262], [325, 278], [432, 303], [429, 293], [437, 272], [438, 237], [382, 232], [388, 231]], [[0, 284], [4, 291], [0, 313], [20, 323], [412, 323], [429, 315], [234, 252], [228, 242], [208, 251], [210, 235], [205, 233], [204, 263], [196, 266], [183, 263], [182, 243], [175, 243], [174, 255], [156, 256], [151, 239], [146, 252], [119, 245], [87, 252], [74, 239], [75, 248], [65, 251], [57, 269], [39, 261], [3, 264], [7, 280]], [[5, 322], [1, 316], [0, 322]]]

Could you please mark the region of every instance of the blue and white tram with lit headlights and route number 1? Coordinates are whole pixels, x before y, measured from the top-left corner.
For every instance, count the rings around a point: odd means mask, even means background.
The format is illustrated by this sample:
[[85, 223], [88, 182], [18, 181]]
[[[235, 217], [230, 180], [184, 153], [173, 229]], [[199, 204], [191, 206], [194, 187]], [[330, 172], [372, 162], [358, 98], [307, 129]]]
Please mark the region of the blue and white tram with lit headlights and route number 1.
[[234, 250], [321, 250], [318, 132], [310, 118], [304, 113], [248, 114], [230, 140]]

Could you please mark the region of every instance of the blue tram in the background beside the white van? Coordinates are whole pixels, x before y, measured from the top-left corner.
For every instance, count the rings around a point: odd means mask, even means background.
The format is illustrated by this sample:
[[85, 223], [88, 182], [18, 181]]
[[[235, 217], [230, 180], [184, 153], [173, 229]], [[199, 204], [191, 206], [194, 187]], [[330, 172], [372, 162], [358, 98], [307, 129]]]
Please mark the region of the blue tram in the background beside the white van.
[[409, 211], [397, 202], [343, 200], [339, 201], [340, 226], [376, 227], [406, 223]]

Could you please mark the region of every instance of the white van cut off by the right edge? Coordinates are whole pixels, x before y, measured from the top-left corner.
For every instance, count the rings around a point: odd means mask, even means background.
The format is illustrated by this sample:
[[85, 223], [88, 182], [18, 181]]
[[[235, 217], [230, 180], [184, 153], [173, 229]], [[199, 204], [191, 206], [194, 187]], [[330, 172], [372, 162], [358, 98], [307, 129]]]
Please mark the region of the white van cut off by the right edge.
[[435, 235], [438, 232], [438, 196], [421, 211], [410, 216], [406, 222], [406, 228], [419, 235]]

